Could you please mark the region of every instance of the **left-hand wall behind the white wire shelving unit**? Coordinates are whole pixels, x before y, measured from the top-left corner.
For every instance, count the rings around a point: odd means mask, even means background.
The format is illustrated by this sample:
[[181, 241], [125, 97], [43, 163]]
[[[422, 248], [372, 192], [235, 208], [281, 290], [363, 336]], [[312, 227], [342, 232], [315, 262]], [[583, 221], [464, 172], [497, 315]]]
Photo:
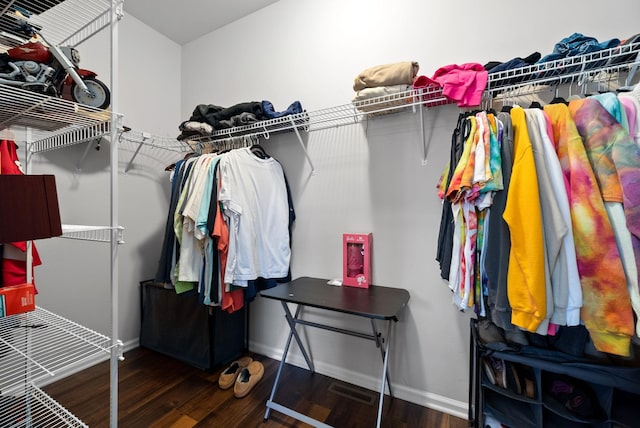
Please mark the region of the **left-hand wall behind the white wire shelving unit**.
[[[177, 135], [180, 123], [180, 46], [126, 16], [119, 24], [120, 108], [124, 125], [153, 135]], [[82, 66], [110, 82], [108, 31], [80, 46]], [[137, 343], [141, 280], [152, 278], [157, 267], [169, 198], [164, 167], [175, 153], [143, 150], [124, 173], [136, 146], [119, 143], [119, 223], [125, 244], [119, 246], [118, 337]], [[101, 150], [92, 143], [33, 156], [33, 173], [55, 174], [64, 224], [109, 225], [109, 142]], [[21, 152], [22, 153], [22, 152]], [[22, 158], [22, 156], [21, 156]], [[79, 167], [79, 169], [78, 169]], [[109, 244], [68, 239], [36, 242], [43, 265], [36, 268], [38, 305], [110, 335]]]

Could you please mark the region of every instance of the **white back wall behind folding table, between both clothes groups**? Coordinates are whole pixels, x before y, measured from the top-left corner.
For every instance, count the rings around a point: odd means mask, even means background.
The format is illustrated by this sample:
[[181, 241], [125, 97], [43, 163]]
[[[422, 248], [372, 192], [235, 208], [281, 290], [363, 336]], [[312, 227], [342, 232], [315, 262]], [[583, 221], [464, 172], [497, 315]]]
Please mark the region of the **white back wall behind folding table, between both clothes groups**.
[[[625, 38], [638, 31], [638, 16], [640, 4], [632, 0], [615, 9], [578, 0], [517, 6], [507, 0], [280, 0], [183, 46], [182, 114], [188, 118], [200, 103], [263, 99], [276, 109], [294, 100], [308, 110], [342, 105], [353, 95], [353, 78], [373, 65], [414, 60], [421, 74], [431, 76], [451, 63], [544, 55], [573, 32], [601, 41]], [[394, 330], [396, 393], [465, 416], [469, 314], [450, 304], [435, 262], [441, 210], [435, 185], [457, 113], [453, 106], [428, 113], [426, 166], [412, 113], [305, 136], [316, 175], [310, 175], [293, 135], [272, 136], [263, 144], [282, 162], [292, 186], [294, 277], [340, 277], [341, 234], [373, 232], [374, 282], [411, 293]], [[368, 328], [347, 316], [329, 317]], [[280, 306], [257, 299], [251, 320], [251, 348], [281, 355], [287, 328]], [[381, 365], [372, 344], [307, 331], [320, 372], [377, 387]], [[291, 361], [304, 364], [297, 350]]]

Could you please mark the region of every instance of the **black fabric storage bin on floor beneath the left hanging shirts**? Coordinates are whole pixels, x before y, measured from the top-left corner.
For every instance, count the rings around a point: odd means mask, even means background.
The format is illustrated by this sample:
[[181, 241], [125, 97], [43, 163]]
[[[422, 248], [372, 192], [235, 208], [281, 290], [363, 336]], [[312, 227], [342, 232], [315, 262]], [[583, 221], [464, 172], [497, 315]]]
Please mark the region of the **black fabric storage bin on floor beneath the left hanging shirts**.
[[140, 345], [213, 370], [246, 348], [246, 306], [229, 314], [198, 302], [198, 296], [176, 294], [154, 281], [142, 281]]

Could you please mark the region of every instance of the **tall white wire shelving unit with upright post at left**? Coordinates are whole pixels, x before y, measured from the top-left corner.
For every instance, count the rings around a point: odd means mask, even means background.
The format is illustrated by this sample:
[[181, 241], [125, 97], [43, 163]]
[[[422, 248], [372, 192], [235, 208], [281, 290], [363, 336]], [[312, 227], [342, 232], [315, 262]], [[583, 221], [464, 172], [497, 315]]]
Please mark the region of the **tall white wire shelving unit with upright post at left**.
[[[117, 22], [123, 0], [8, 0], [0, 2], [0, 52], [25, 42], [16, 11], [28, 17], [52, 44], [77, 46], [100, 30], [111, 29], [111, 102], [117, 111]], [[106, 52], [109, 55], [109, 51]], [[0, 130], [23, 132], [27, 168], [31, 154], [117, 138], [121, 116], [67, 99], [0, 85]], [[88, 145], [89, 146], [89, 145]], [[114, 148], [115, 147], [115, 148]], [[114, 161], [115, 167], [113, 167]], [[117, 248], [123, 228], [117, 224], [117, 145], [111, 145], [111, 226], [64, 225], [63, 237], [112, 245], [111, 333], [117, 335]], [[28, 171], [28, 169], [27, 169]], [[86, 427], [38, 386], [55, 376], [110, 358], [110, 426], [117, 426], [117, 361], [122, 343], [43, 308], [0, 318], [0, 426]], [[105, 403], [106, 405], [106, 403]]]

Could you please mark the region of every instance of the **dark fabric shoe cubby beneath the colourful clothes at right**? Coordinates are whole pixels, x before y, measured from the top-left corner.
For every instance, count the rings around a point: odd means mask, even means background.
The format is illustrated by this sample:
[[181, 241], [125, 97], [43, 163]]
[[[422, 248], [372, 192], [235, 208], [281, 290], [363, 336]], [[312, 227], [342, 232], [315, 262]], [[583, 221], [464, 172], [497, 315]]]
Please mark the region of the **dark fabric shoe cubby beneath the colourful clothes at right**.
[[640, 427], [640, 367], [533, 346], [496, 350], [479, 341], [476, 323], [471, 320], [471, 426], [483, 427], [491, 415], [508, 427]]

